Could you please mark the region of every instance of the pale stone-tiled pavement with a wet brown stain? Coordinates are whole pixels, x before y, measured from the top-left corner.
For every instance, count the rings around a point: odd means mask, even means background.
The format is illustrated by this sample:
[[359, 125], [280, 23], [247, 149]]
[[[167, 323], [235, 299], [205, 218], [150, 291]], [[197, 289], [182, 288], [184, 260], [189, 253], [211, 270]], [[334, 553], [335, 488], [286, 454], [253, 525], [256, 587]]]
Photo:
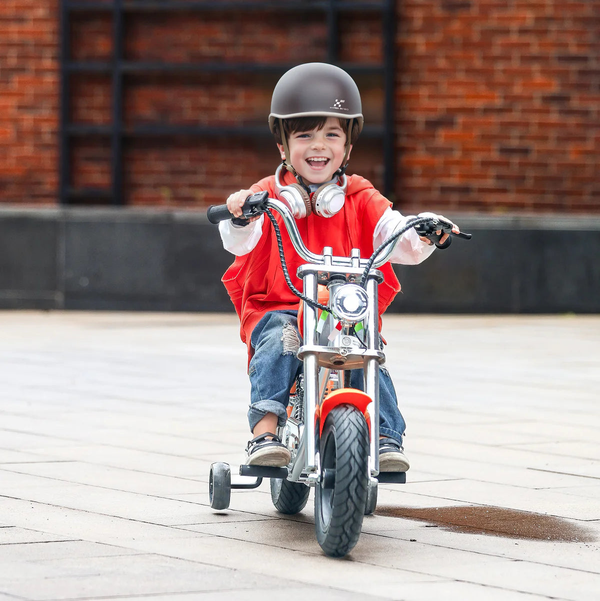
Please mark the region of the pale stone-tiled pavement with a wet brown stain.
[[384, 335], [412, 465], [332, 560], [312, 494], [208, 506], [248, 439], [235, 316], [1, 312], [0, 601], [600, 599], [600, 317]]

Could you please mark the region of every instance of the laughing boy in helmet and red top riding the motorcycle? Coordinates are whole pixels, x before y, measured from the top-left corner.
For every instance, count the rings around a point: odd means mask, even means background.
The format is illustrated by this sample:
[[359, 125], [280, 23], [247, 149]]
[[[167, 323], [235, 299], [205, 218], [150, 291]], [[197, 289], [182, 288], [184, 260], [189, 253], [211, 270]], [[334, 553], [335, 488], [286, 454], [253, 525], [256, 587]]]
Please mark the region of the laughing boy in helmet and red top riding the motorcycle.
[[[248, 346], [251, 384], [248, 418], [253, 439], [246, 448], [247, 465], [285, 466], [290, 454], [274, 434], [285, 424], [289, 389], [302, 362], [295, 353], [300, 346], [297, 325], [298, 298], [283, 278], [273, 227], [264, 215], [240, 219], [241, 207], [255, 192], [268, 191], [276, 198], [283, 186], [292, 186], [300, 199], [303, 218], [296, 224], [309, 250], [321, 254], [332, 246], [334, 255], [360, 248], [369, 257], [408, 218], [391, 209], [391, 203], [358, 175], [343, 177], [353, 144], [363, 126], [359, 90], [342, 69], [326, 63], [307, 63], [286, 72], [277, 82], [271, 100], [269, 126], [285, 175], [262, 179], [250, 189], [227, 199], [231, 221], [222, 221], [223, 246], [236, 255], [222, 281], [241, 322], [241, 340]], [[277, 178], [277, 180], [276, 180]], [[281, 181], [281, 179], [283, 181]], [[345, 180], [345, 182], [344, 182]], [[320, 194], [331, 185], [345, 183], [345, 200], [333, 200], [326, 208]], [[337, 188], [333, 188], [337, 192]], [[335, 196], [335, 194], [334, 194]], [[332, 197], [330, 196], [329, 199]], [[323, 202], [320, 203], [320, 200]], [[340, 206], [341, 205], [341, 206]], [[274, 214], [281, 222], [279, 215]], [[285, 228], [282, 228], [285, 230]], [[458, 233], [458, 227], [453, 226]], [[440, 234], [438, 232], [438, 234]], [[447, 234], [441, 238], [444, 243]], [[283, 236], [288, 272], [294, 281], [302, 260], [288, 237]], [[417, 264], [435, 246], [414, 229], [398, 241], [391, 261]], [[383, 314], [400, 290], [389, 263], [380, 267], [385, 281], [379, 285], [379, 314]], [[300, 281], [294, 282], [300, 287]], [[350, 385], [362, 388], [362, 370], [352, 370]], [[410, 464], [402, 448], [405, 423], [398, 410], [392, 380], [380, 368], [380, 471], [406, 471]]]

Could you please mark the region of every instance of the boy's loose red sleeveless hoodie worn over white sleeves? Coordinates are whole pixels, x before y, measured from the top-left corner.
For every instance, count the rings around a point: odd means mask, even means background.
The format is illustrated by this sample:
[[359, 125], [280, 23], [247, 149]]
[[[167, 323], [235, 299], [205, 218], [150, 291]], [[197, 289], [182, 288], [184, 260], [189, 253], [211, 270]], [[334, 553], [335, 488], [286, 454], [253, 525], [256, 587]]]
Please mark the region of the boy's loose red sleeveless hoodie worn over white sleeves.
[[[275, 177], [265, 177], [250, 189], [253, 192], [266, 190], [269, 197], [276, 198]], [[295, 178], [286, 173], [283, 181], [295, 182]], [[331, 218], [309, 215], [296, 219], [296, 225], [306, 248], [315, 254], [321, 254], [324, 246], [332, 246], [333, 255], [349, 257], [351, 249], [359, 248], [360, 256], [373, 254], [373, 233], [375, 226], [388, 207], [392, 206], [371, 184], [360, 175], [348, 176], [346, 201], [342, 210]], [[279, 213], [273, 215], [280, 226], [283, 251], [292, 284], [302, 290], [302, 280], [295, 275], [298, 267], [306, 261], [300, 258], [292, 246], [289, 235]], [[379, 314], [389, 307], [400, 290], [390, 263], [380, 267], [385, 281], [379, 285]], [[279, 260], [277, 239], [273, 224], [266, 216], [262, 224], [262, 236], [255, 248], [248, 254], [235, 257], [235, 261], [225, 272], [223, 284], [231, 297], [235, 311], [240, 318], [241, 340], [248, 346], [248, 356], [253, 355], [250, 335], [262, 316], [268, 311], [298, 310], [300, 299], [289, 290], [283, 278]]]

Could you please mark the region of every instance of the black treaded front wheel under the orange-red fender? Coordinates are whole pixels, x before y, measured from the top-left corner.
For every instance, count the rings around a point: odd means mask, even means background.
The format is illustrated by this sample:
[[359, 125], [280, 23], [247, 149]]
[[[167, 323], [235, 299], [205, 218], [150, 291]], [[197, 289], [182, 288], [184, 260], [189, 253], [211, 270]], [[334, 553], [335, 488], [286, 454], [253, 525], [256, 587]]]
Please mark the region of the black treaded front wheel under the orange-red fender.
[[321, 482], [315, 487], [315, 531], [321, 549], [344, 557], [356, 545], [365, 514], [369, 431], [353, 405], [334, 407], [320, 442]]

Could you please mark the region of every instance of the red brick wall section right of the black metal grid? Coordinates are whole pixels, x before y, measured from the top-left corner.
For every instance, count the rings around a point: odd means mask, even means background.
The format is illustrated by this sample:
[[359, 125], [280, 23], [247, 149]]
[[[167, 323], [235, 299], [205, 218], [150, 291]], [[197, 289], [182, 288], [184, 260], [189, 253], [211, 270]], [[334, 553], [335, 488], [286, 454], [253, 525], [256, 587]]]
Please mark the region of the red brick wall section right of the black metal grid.
[[405, 206], [600, 209], [600, 2], [404, 0]]

